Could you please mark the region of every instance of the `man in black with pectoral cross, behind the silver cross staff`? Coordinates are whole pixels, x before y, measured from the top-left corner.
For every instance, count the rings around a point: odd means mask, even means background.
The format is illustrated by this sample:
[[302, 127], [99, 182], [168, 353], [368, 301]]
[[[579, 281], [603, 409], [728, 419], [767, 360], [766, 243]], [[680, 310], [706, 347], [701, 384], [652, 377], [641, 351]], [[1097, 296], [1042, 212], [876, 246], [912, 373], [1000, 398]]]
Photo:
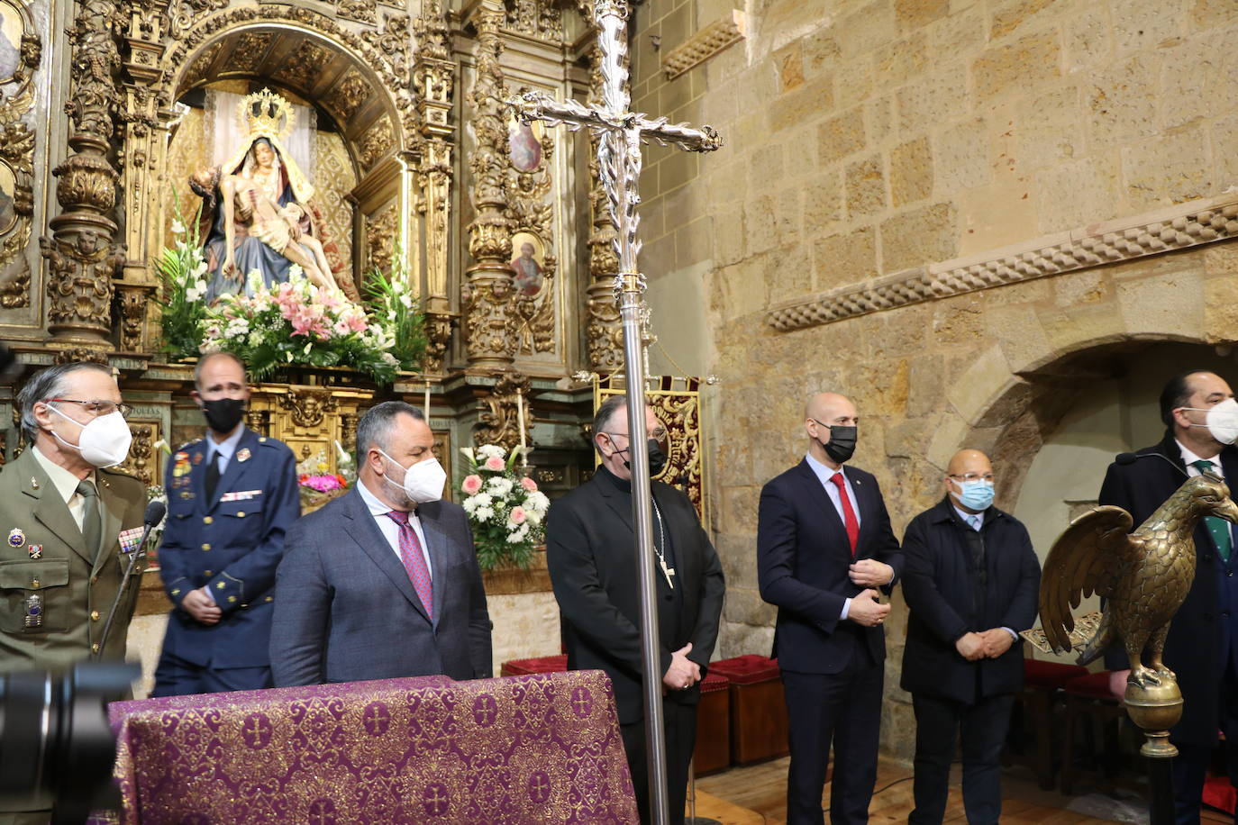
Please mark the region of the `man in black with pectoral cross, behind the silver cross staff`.
[[[652, 409], [645, 409], [645, 423], [651, 435], [650, 469], [656, 475], [666, 461], [657, 445], [666, 430]], [[602, 466], [550, 508], [546, 562], [562, 616], [568, 668], [605, 670], [614, 683], [636, 804], [641, 821], [647, 823], [640, 585], [625, 396], [613, 396], [599, 407], [593, 445]], [[670, 485], [651, 485], [670, 821], [678, 824], [696, 743], [699, 684], [718, 638], [725, 584], [692, 502]]]

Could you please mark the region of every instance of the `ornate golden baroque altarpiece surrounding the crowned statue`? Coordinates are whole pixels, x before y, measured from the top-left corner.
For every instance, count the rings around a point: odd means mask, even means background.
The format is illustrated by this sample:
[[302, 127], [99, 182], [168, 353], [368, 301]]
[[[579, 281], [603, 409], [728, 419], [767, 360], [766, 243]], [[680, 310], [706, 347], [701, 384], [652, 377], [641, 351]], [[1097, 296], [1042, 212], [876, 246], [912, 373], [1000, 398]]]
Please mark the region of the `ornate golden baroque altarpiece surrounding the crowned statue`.
[[[312, 110], [318, 207], [353, 273], [401, 255], [422, 297], [423, 375], [376, 387], [291, 369], [249, 424], [334, 465], [365, 407], [428, 403], [439, 451], [536, 447], [550, 490], [592, 466], [593, 388], [621, 369], [618, 266], [591, 139], [519, 124], [504, 99], [588, 99], [589, 0], [0, 0], [0, 328], [27, 372], [93, 360], [136, 408], [130, 469], [201, 433], [192, 364], [160, 351], [173, 208], [207, 157], [215, 92]], [[591, 183], [592, 182], [592, 183]], [[173, 194], [175, 193], [175, 194]], [[188, 207], [188, 208], [192, 208]], [[19, 381], [20, 385], [20, 381]], [[12, 392], [0, 390], [6, 422]], [[520, 428], [517, 411], [525, 417]], [[17, 449], [4, 432], [5, 454]]]

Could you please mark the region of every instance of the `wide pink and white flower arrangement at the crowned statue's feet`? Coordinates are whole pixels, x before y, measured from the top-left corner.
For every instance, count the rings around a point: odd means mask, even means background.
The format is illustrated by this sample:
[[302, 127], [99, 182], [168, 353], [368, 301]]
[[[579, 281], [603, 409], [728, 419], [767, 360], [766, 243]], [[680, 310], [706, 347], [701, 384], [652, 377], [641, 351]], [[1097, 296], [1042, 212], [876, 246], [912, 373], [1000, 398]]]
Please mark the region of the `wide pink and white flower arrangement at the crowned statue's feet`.
[[176, 241], [156, 262], [166, 353], [188, 359], [225, 350], [245, 362], [254, 381], [287, 365], [343, 365], [391, 383], [401, 370], [420, 366], [427, 344], [423, 317], [399, 250], [390, 273], [374, 270], [365, 281], [369, 313], [338, 288], [312, 284], [296, 265], [287, 281], [270, 287], [250, 272], [244, 294], [224, 294], [206, 306], [197, 219], [187, 228], [180, 204], [175, 215]]

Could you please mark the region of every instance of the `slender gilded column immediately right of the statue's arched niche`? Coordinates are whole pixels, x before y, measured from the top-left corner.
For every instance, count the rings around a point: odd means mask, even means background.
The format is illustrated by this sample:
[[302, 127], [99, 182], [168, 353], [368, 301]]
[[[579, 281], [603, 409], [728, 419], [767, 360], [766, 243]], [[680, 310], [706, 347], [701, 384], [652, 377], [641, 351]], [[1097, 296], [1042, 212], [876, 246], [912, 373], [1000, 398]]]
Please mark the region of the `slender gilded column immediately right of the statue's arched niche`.
[[451, 125], [456, 64], [451, 61], [451, 31], [439, 0], [428, 0], [413, 22], [420, 48], [413, 63], [413, 84], [425, 139], [418, 167], [421, 203], [426, 218], [426, 372], [442, 375], [456, 314], [448, 297], [448, 235], [451, 228], [452, 156]]

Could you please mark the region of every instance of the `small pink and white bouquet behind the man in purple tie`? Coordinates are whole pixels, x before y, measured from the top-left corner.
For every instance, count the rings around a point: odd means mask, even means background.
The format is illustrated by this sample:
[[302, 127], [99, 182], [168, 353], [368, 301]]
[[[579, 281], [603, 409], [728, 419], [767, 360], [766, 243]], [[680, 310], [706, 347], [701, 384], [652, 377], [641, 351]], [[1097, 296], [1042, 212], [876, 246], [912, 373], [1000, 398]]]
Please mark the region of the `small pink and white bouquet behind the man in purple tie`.
[[483, 570], [504, 564], [527, 569], [534, 548], [546, 532], [542, 522], [550, 498], [536, 481], [515, 472], [519, 447], [510, 455], [496, 444], [483, 444], [475, 450], [465, 447], [461, 453], [469, 463], [461, 492], [478, 564]]

